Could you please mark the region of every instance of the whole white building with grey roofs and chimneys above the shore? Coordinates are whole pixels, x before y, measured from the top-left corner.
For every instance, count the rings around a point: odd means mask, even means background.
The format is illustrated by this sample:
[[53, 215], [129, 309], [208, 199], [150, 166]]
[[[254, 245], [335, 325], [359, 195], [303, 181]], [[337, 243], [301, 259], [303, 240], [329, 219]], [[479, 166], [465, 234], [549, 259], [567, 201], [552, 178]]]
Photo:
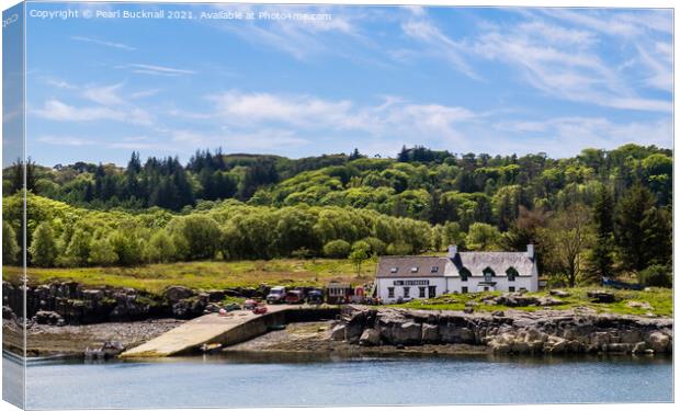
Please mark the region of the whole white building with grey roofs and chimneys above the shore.
[[525, 252], [458, 252], [446, 256], [382, 256], [376, 295], [383, 302], [432, 298], [442, 294], [539, 290], [534, 247]]

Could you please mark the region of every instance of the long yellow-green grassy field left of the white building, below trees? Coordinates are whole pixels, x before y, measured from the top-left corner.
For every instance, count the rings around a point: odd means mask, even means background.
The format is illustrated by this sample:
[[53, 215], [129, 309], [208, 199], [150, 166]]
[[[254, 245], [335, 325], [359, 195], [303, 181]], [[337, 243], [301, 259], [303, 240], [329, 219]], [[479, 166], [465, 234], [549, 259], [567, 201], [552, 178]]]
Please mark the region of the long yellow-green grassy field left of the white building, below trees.
[[[18, 281], [21, 269], [2, 267], [3, 277]], [[375, 262], [362, 264], [361, 277], [348, 260], [199, 261], [150, 264], [137, 267], [30, 269], [29, 283], [73, 279], [89, 286], [115, 286], [159, 293], [171, 285], [194, 289], [257, 287], [268, 285], [322, 286], [331, 279], [355, 285], [372, 281]]]

